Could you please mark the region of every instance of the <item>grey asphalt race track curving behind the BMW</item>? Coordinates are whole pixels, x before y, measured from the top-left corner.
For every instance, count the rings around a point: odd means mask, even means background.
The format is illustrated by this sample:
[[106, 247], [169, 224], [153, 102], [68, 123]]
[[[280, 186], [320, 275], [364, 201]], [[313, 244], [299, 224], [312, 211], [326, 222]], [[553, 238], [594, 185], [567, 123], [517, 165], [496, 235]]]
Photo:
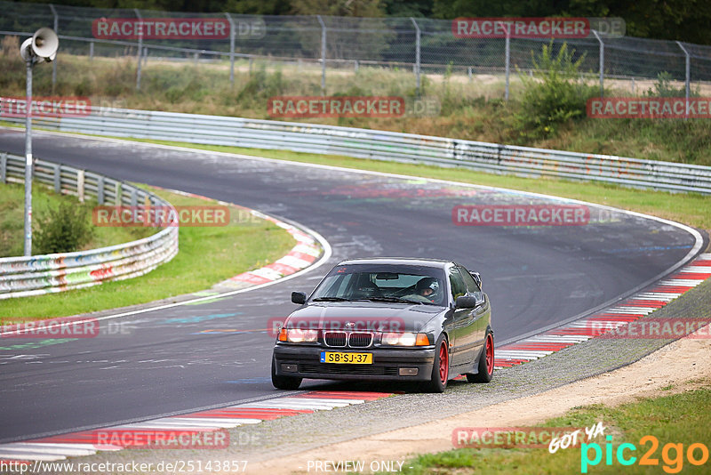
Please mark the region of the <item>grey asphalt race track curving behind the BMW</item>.
[[[0, 130], [1, 150], [22, 154], [23, 147], [21, 131]], [[455, 205], [560, 204], [518, 192], [47, 133], [36, 133], [33, 148], [36, 157], [297, 221], [320, 233], [333, 255], [283, 283], [109, 320], [129, 334], [3, 339], [0, 442], [275, 396], [280, 391], [268, 378], [273, 338], [263, 331], [268, 318], [287, 315], [292, 290], [310, 291], [346, 258], [444, 258], [480, 271], [500, 343], [627, 294], [695, 244], [667, 223], [598, 208], [583, 226], [452, 222]], [[216, 329], [228, 332], [201, 333]]]

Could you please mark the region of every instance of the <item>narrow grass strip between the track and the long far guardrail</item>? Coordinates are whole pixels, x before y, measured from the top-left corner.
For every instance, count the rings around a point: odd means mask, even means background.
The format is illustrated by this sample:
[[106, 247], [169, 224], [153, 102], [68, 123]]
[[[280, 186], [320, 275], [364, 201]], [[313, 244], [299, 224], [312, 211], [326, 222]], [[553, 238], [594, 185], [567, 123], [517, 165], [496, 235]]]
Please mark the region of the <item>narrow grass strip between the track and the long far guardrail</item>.
[[188, 147], [191, 149], [240, 153], [293, 162], [342, 166], [357, 170], [372, 170], [384, 173], [399, 173], [425, 178], [461, 181], [464, 183], [507, 189], [520, 189], [523, 191], [554, 195], [556, 197], [569, 197], [600, 205], [614, 206], [639, 213], [648, 213], [659, 216], [660, 218], [683, 222], [700, 229], [711, 229], [711, 196], [696, 193], [667, 193], [664, 191], [629, 189], [617, 185], [580, 181], [520, 178], [512, 175], [474, 172], [464, 168], [442, 168], [431, 165], [401, 164], [381, 160], [365, 160], [361, 158], [297, 153], [282, 150], [241, 149], [237, 147], [186, 144], [173, 141], [148, 141], [140, 139], [136, 139], [136, 141]]

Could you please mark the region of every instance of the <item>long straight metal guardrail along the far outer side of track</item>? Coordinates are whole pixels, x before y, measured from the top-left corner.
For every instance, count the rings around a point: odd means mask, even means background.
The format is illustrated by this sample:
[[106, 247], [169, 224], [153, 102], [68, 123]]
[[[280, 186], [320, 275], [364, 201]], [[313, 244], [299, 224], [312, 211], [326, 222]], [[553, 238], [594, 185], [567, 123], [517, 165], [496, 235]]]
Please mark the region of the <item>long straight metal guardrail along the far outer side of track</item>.
[[[24, 119], [4, 120], [20, 122]], [[462, 166], [490, 173], [555, 176], [711, 194], [711, 167], [708, 166], [334, 125], [101, 108], [94, 109], [89, 117], [37, 118], [35, 124], [63, 132]]]

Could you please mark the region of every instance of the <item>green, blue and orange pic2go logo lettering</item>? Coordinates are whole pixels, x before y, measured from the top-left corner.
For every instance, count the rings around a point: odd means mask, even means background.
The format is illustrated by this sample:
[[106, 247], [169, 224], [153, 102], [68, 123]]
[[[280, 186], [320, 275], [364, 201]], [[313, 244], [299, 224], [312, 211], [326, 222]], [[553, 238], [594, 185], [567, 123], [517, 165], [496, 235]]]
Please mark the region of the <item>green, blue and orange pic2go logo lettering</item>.
[[[654, 436], [644, 436], [639, 439], [639, 444], [641, 446], [646, 446], [650, 444], [651, 447], [639, 458], [637, 462], [637, 457], [633, 455], [636, 452], [637, 447], [635, 444], [619, 444], [615, 450], [612, 447], [612, 436], [607, 436], [607, 443], [604, 448], [605, 465], [612, 465], [612, 455], [617, 459], [617, 463], [620, 465], [649, 465], [649, 466], [659, 466], [659, 459], [654, 455], [659, 448], [659, 439]], [[691, 444], [686, 447], [686, 452], [684, 453], [683, 444], [665, 444], [661, 449], [661, 459], [664, 462], [662, 470], [667, 473], [679, 473], [683, 469], [684, 455], [686, 455], [686, 460], [691, 463], [691, 465], [703, 465], [708, 462], [708, 447], [699, 442]], [[590, 458], [590, 457], [593, 458]], [[603, 461], [603, 447], [600, 444], [593, 442], [592, 444], [583, 443], [580, 446], [580, 473], [587, 473], [588, 466], [595, 466]]]

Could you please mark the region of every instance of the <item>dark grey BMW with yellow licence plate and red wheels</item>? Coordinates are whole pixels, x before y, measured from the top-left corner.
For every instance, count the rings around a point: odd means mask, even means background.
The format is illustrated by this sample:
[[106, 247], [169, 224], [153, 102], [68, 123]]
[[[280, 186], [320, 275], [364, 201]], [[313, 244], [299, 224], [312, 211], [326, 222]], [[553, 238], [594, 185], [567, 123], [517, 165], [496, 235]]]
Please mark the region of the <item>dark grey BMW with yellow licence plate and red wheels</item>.
[[476, 272], [449, 261], [371, 258], [340, 262], [279, 329], [272, 382], [304, 378], [412, 381], [442, 392], [465, 374], [490, 382], [491, 304]]

